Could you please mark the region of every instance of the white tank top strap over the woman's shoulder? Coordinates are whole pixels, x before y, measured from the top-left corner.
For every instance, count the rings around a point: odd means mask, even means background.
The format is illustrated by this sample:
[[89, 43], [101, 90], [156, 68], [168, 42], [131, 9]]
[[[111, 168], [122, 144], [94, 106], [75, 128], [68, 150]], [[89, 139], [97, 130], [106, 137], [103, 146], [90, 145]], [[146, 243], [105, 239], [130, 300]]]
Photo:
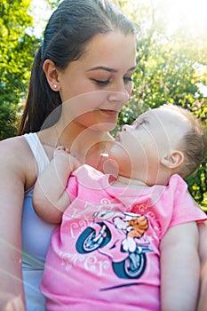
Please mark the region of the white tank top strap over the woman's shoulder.
[[28, 145], [35, 156], [38, 174], [44, 171], [44, 168], [50, 163], [48, 156], [46, 155], [43, 145], [41, 144], [36, 132], [24, 134], [25, 139], [28, 141]]

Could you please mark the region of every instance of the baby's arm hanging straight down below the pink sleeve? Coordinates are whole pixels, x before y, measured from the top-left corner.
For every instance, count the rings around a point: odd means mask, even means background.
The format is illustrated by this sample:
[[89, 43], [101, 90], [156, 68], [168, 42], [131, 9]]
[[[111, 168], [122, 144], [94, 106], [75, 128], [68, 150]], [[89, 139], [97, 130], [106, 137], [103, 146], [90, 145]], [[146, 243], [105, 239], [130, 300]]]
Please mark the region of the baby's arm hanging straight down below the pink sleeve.
[[200, 261], [195, 222], [171, 227], [161, 241], [161, 310], [195, 311]]

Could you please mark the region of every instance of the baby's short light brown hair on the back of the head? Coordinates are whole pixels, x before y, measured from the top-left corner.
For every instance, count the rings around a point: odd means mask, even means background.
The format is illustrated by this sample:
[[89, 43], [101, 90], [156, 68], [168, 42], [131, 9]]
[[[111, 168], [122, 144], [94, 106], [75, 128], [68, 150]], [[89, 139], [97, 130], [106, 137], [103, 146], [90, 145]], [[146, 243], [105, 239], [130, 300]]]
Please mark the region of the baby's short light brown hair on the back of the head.
[[184, 155], [184, 162], [180, 167], [179, 175], [186, 179], [203, 163], [207, 152], [207, 136], [204, 124], [189, 110], [176, 105], [166, 104], [163, 109], [171, 109], [186, 117], [189, 130], [179, 140], [179, 150]]

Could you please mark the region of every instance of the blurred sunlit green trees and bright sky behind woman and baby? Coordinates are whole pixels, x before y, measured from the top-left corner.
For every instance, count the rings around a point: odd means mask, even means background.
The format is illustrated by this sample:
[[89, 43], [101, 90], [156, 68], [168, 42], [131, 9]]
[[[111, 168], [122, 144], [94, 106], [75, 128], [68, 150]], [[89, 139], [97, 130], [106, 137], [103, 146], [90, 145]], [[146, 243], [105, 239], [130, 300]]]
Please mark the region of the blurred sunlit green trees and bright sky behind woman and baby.
[[[146, 109], [167, 102], [189, 109], [207, 128], [207, 1], [113, 2], [122, 7], [138, 28], [134, 91], [119, 116], [115, 132]], [[33, 60], [45, 24], [59, 3], [1, 1], [0, 140], [16, 134]], [[187, 179], [187, 184], [196, 202], [207, 211], [207, 159]]]

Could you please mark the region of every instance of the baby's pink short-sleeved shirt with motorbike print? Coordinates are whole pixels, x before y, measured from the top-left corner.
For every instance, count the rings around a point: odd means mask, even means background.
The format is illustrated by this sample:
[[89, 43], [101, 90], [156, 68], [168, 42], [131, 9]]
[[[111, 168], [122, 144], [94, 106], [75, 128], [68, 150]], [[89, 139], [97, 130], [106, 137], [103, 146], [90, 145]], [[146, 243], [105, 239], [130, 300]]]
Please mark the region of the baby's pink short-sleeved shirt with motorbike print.
[[41, 285], [47, 310], [159, 310], [160, 240], [169, 227], [206, 219], [179, 175], [167, 187], [108, 179], [84, 165], [68, 181], [72, 203], [53, 231]]

